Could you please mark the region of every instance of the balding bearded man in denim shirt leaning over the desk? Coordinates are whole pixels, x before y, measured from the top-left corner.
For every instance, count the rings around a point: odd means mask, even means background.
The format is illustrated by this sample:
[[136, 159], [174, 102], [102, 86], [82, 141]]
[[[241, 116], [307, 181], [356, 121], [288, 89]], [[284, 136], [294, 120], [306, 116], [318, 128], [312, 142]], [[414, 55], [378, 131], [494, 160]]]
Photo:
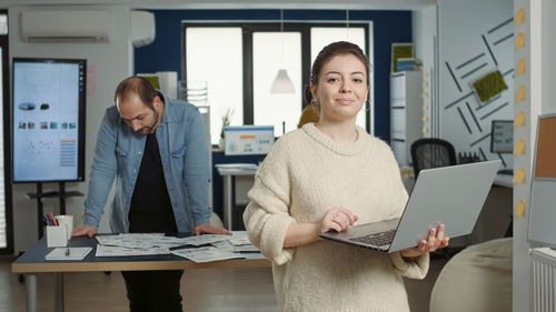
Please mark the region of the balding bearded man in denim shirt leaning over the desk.
[[[115, 233], [230, 234], [209, 225], [208, 149], [199, 110], [165, 98], [148, 80], [120, 82], [97, 138], [85, 201], [83, 225], [73, 235], [97, 234], [112, 181]], [[182, 311], [183, 271], [122, 272], [135, 311]]]

